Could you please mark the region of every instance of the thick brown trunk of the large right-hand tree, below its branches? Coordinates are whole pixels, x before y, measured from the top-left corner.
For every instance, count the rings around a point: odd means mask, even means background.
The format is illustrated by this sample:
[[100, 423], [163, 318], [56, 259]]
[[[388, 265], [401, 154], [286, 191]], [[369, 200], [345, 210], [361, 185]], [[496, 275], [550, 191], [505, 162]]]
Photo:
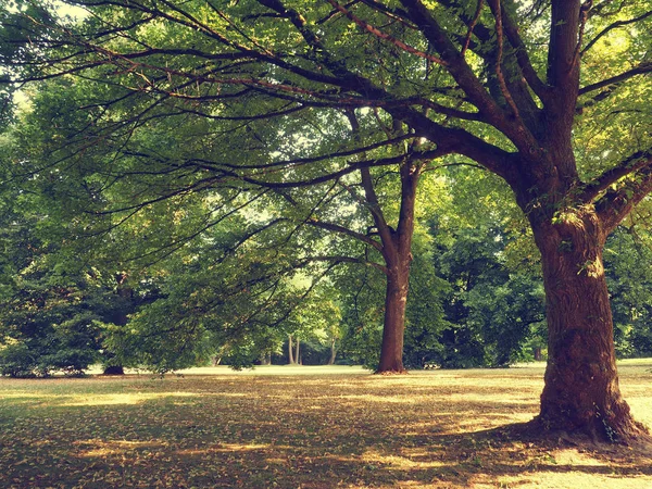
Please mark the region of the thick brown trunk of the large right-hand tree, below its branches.
[[548, 366], [536, 419], [546, 429], [627, 441], [643, 430], [618, 387], [613, 321], [602, 264], [606, 233], [591, 210], [535, 226], [548, 318]]

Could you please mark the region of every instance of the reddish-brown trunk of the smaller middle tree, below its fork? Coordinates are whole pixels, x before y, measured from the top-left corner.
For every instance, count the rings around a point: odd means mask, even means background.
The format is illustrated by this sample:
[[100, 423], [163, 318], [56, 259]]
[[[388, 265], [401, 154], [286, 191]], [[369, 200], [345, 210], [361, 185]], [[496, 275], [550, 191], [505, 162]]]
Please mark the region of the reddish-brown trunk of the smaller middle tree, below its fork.
[[377, 373], [404, 373], [403, 334], [410, 265], [403, 273], [390, 271], [385, 293], [385, 324]]

